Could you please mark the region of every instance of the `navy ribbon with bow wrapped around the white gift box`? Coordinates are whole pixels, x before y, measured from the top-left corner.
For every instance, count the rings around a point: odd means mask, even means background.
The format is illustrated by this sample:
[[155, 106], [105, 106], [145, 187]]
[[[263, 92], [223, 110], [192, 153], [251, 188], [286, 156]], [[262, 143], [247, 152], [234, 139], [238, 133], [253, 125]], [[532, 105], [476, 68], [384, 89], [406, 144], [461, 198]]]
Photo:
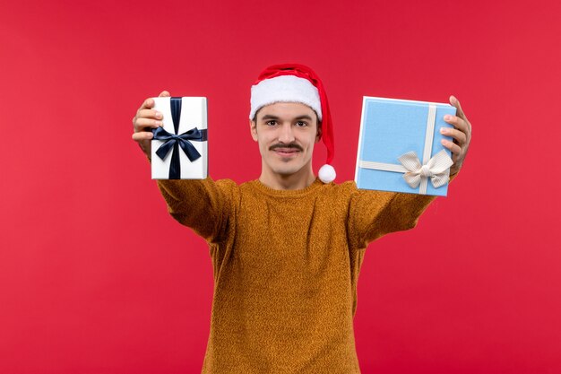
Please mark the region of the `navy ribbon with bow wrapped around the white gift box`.
[[163, 127], [158, 127], [152, 130], [154, 135], [154, 140], [160, 140], [164, 144], [160, 145], [160, 148], [156, 151], [158, 157], [164, 160], [168, 155], [169, 151], [171, 153], [171, 164], [169, 165], [169, 178], [170, 179], [180, 179], [181, 178], [181, 164], [179, 162], [179, 147], [186, 153], [189, 161], [193, 162], [201, 157], [191, 141], [195, 142], [205, 142], [207, 140], [206, 129], [199, 130], [194, 127], [189, 131], [181, 135], [177, 135], [179, 130], [179, 119], [181, 117], [181, 98], [171, 98], [171, 118], [173, 120], [173, 126], [176, 130], [176, 134], [169, 134]]

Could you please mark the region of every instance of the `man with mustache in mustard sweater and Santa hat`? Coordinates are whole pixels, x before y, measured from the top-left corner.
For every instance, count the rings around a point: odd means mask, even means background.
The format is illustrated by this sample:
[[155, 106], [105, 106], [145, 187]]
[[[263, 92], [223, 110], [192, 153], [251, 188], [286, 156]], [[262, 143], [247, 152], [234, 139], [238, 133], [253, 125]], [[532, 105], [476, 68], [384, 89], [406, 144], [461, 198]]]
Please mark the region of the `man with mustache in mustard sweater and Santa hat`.
[[[160, 96], [168, 96], [164, 91]], [[470, 144], [460, 103], [444, 144], [456, 174]], [[150, 157], [161, 114], [145, 100], [133, 139]], [[274, 65], [252, 87], [250, 131], [259, 179], [160, 180], [169, 213], [207, 240], [214, 270], [211, 334], [203, 373], [358, 373], [353, 317], [367, 244], [408, 230], [431, 196], [358, 190], [312, 170], [332, 124], [323, 85], [303, 65]], [[326, 167], [329, 171], [329, 166]], [[332, 171], [332, 170], [331, 170]], [[331, 174], [331, 175], [330, 175]]]

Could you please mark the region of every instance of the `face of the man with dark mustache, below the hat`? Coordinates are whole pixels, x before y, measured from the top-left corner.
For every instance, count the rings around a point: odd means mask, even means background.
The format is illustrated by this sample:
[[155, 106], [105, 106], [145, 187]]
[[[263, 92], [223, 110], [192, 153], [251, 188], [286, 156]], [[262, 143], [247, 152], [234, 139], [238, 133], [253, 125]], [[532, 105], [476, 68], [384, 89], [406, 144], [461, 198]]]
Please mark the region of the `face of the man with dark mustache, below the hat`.
[[277, 102], [259, 109], [250, 126], [264, 171], [286, 177], [311, 170], [314, 144], [321, 136], [313, 109], [296, 102]]

